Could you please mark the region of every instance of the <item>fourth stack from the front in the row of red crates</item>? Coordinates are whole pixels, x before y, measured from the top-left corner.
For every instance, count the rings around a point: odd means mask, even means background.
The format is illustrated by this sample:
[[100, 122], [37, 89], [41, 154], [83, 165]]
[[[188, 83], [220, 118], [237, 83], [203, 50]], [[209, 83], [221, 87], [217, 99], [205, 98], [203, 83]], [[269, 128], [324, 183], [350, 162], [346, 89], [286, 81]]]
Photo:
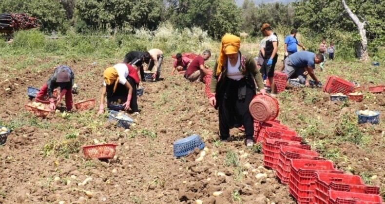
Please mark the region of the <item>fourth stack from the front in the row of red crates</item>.
[[289, 184], [290, 181], [291, 159], [325, 160], [319, 157], [319, 153], [311, 150], [281, 146], [276, 175], [283, 184]]

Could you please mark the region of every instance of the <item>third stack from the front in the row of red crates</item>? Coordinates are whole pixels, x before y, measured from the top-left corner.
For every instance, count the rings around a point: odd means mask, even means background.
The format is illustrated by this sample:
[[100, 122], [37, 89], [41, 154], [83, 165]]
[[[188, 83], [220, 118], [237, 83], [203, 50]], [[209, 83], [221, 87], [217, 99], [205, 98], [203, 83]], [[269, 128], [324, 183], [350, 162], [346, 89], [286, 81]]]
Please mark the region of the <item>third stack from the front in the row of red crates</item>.
[[298, 204], [313, 202], [315, 172], [344, 173], [344, 171], [334, 169], [333, 163], [330, 161], [292, 159], [289, 192]]

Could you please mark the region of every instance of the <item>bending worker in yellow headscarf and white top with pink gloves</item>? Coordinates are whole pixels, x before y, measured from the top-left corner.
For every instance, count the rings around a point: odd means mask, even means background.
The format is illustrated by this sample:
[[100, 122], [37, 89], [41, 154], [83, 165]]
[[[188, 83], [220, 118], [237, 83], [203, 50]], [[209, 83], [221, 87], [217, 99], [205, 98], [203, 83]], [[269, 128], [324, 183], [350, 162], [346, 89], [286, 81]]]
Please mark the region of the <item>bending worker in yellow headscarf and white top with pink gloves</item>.
[[136, 88], [139, 85], [139, 76], [134, 67], [129, 64], [116, 64], [112, 68], [107, 68], [103, 73], [103, 88], [101, 90], [99, 112], [104, 112], [104, 97], [107, 95], [107, 100], [114, 96], [127, 97], [127, 101], [123, 103], [124, 110], [129, 108], [134, 114], [139, 114]]

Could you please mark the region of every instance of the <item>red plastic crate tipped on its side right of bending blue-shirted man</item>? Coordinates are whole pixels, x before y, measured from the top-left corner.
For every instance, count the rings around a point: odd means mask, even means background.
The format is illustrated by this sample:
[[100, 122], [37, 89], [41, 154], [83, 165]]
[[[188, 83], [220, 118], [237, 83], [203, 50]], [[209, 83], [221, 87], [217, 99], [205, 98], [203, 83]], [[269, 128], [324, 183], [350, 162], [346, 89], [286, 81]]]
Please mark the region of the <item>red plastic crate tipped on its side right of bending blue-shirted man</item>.
[[346, 95], [351, 93], [353, 89], [354, 85], [352, 83], [336, 76], [327, 77], [327, 81], [324, 86], [324, 91], [329, 94], [343, 93]]

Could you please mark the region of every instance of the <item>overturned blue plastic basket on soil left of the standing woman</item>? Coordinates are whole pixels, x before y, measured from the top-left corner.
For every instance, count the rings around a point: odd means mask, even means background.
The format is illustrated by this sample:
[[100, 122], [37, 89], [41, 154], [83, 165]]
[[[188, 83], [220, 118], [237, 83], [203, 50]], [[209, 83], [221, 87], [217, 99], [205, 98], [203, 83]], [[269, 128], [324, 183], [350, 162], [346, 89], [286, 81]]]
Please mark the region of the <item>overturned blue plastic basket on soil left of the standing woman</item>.
[[188, 136], [183, 139], [178, 139], [174, 142], [174, 156], [185, 156], [194, 151], [195, 148], [200, 150], [205, 147], [205, 143], [202, 142], [198, 135]]

